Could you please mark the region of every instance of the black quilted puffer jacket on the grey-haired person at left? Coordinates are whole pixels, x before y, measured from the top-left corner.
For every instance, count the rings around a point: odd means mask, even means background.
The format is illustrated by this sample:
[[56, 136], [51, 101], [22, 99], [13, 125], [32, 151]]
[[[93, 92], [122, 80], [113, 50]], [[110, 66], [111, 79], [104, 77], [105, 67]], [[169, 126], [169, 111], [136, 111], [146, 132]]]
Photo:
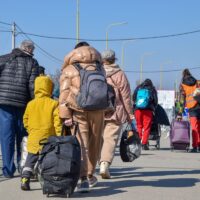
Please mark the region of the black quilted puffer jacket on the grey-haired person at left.
[[38, 75], [38, 62], [22, 50], [0, 56], [0, 105], [25, 107]]

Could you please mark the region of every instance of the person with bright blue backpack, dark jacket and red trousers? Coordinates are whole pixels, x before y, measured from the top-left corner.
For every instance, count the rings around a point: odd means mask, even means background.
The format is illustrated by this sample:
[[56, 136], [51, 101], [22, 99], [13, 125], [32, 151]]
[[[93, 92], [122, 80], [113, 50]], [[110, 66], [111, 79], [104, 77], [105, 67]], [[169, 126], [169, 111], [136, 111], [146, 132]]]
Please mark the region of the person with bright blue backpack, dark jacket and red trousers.
[[149, 150], [148, 139], [153, 121], [153, 113], [158, 105], [157, 91], [150, 79], [146, 79], [133, 94], [134, 115], [143, 149]]

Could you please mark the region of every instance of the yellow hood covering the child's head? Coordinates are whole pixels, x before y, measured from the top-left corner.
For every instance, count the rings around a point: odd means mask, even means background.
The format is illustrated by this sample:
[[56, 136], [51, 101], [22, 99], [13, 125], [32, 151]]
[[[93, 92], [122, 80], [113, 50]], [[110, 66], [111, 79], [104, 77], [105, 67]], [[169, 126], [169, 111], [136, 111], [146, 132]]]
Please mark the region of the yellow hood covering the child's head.
[[53, 82], [48, 76], [39, 76], [35, 79], [35, 97], [51, 97], [53, 91]]

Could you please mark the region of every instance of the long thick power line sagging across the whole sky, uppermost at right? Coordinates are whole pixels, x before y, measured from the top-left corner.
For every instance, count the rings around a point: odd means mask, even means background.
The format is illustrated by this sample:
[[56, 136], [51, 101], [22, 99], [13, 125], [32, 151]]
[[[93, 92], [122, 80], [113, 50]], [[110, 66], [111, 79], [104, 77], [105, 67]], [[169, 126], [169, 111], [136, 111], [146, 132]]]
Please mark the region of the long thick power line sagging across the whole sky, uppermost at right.
[[[200, 32], [200, 29], [194, 30], [194, 31], [183, 32], [183, 33], [169, 34], [169, 35], [108, 39], [108, 41], [117, 42], [117, 41], [129, 41], [129, 40], [161, 39], [161, 38], [179, 37], [179, 36], [195, 34], [195, 33], [199, 33], [199, 32]], [[18, 32], [18, 33], [31, 35], [31, 36], [35, 36], [35, 37], [46, 38], [46, 39], [76, 40], [76, 38], [73, 38], [73, 37], [57, 37], [57, 36], [40, 35], [40, 34], [27, 33], [27, 32]], [[106, 41], [106, 39], [89, 39], [89, 38], [80, 38], [80, 40], [91, 41], [91, 42], [105, 42]]]

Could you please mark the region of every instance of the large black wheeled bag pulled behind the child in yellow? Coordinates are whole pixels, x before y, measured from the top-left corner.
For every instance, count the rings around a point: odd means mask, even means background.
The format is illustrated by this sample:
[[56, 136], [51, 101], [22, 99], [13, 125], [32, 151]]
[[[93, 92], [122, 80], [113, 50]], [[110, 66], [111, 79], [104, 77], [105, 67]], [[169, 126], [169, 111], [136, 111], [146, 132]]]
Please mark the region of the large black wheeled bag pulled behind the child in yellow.
[[[67, 136], [63, 136], [64, 129]], [[41, 151], [39, 159], [39, 174], [43, 194], [53, 195], [73, 194], [80, 175], [81, 148], [76, 138], [79, 131], [75, 125], [74, 135], [70, 128], [63, 125], [62, 136], [51, 136]], [[41, 142], [42, 143], [42, 142]]]

